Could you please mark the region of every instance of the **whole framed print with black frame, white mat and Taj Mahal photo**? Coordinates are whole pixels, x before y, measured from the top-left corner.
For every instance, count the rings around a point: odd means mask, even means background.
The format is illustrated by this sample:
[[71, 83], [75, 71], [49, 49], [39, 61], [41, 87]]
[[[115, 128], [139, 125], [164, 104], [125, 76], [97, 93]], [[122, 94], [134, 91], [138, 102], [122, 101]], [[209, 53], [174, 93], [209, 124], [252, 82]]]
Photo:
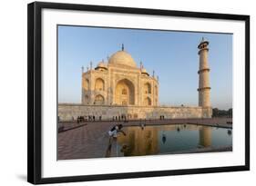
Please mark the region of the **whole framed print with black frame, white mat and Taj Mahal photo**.
[[250, 16], [28, 5], [31, 183], [250, 170]]

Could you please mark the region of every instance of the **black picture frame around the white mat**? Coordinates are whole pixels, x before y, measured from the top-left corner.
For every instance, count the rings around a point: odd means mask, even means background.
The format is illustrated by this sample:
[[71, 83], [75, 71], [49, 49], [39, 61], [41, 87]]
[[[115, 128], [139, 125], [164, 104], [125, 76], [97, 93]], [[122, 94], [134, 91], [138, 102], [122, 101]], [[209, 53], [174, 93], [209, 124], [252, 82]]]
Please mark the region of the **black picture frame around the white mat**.
[[[41, 73], [41, 24], [42, 9], [61, 9], [110, 12], [137, 15], [164, 15], [209, 19], [239, 20], [245, 23], [245, 164], [240, 166], [209, 167], [174, 171], [144, 171], [97, 175], [42, 178], [42, 73]], [[27, 181], [34, 184], [70, 181], [99, 181], [180, 174], [210, 173], [250, 170], [250, 16], [199, 12], [142, 9], [101, 5], [75, 5], [35, 2], [27, 5]]]

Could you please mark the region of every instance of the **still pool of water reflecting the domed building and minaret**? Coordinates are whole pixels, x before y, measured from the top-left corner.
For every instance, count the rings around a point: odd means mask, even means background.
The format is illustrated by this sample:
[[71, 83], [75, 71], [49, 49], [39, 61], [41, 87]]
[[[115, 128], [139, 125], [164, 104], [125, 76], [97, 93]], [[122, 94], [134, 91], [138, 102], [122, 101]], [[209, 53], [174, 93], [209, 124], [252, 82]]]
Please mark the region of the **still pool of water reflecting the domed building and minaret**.
[[232, 129], [194, 124], [124, 127], [118, 135], [117, 156], [197, 152], [232, 146]]

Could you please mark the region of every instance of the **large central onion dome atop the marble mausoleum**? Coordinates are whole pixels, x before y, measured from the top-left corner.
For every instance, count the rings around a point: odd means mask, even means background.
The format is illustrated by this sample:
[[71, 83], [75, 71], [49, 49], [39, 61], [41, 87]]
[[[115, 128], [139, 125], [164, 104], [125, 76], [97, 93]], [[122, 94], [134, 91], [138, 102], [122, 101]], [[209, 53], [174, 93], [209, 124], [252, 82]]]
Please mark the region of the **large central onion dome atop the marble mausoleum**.
[[126, 66], [137, 67], [132, 56], [126, 51], [118, 51], [115, 54], [112, 54], [108, 61], [109, 64], [122, 64]]

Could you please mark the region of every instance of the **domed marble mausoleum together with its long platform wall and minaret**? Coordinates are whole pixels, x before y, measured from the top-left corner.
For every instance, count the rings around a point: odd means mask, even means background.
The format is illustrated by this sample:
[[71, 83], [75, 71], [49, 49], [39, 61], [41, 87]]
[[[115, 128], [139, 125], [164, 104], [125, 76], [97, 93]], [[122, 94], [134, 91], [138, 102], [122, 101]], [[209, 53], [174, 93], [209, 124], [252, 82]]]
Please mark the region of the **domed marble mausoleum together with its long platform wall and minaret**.
[[[210, 118], [209, 42], [200, 41], [198, 106], [159, 105], [159, 77], [149, 75], [144, 65], [135, 62], [122, 44], [121, 49], [102, 60], [95, 68], [92, 63], [81, 75], [81, 103], [58, 103], [61, 121], [78, 116], [94, 116], [96, 120], [138, 120], [174, 118]], [[147, 62], [145, 63], [147, 64]], [[189, 77], [188, 77], [189, 78]]]

